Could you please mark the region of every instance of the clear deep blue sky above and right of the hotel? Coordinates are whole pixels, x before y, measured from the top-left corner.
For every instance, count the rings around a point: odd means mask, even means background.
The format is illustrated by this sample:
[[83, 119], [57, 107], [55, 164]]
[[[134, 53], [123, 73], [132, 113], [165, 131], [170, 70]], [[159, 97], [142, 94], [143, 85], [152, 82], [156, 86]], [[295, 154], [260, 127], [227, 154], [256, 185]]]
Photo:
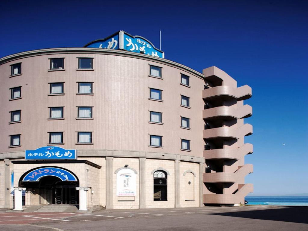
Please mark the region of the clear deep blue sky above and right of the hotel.
[[[0, 57], [83, 47], [124, 30], [197, 71], [217, 66], [248, 84], [254, 145], [250, 195], [308, 193], [307, 1], [7, 1]], [[283, 146], [282, 144], [285, 143]]]

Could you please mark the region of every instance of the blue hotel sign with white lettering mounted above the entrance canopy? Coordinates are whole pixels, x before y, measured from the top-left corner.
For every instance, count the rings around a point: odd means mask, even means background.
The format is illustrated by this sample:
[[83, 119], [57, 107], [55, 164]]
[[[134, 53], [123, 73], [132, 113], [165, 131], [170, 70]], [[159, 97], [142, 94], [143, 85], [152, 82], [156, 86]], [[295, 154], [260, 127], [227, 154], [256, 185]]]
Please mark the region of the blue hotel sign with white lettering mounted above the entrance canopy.
[[75, 160], [76, 158], [75, 149], [64, 149], [56, 146], [25, 150], [26, 160]]

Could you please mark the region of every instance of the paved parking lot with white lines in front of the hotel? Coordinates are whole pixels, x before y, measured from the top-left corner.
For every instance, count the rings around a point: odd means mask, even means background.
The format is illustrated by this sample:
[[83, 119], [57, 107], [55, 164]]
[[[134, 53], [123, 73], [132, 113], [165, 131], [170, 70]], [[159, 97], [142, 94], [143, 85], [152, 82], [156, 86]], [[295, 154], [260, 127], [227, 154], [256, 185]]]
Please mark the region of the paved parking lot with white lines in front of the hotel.
[[308, 230], [308, 207], [113, 209], [95, 213], [0, 213], [0, 230]]

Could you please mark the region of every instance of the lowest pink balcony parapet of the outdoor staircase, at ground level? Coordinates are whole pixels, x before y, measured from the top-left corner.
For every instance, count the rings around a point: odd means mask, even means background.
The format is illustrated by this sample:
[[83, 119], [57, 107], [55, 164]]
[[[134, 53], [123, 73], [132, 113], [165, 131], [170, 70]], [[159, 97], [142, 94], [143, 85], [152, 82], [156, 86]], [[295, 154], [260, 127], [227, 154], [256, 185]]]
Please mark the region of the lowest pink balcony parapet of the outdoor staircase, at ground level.
[[244, 198], [248, 193], [253, 192], [253, 184], [239, 185], [239, 190], [235, 194], [204, 194], [205, 204], [244, 204]]

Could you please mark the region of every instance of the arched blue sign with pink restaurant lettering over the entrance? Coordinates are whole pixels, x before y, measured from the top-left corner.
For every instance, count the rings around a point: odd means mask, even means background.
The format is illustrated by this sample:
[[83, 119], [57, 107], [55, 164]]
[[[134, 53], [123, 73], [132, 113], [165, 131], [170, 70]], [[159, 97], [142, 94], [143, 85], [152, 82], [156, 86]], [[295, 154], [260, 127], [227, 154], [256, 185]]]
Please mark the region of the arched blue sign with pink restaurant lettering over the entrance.
[[62, 181], [77, 181], [76, 176], [63, 168], [43, 167], [37, 168], [22, 179], [22, 181], [39, 181], [43, 176], [56, 176]]

